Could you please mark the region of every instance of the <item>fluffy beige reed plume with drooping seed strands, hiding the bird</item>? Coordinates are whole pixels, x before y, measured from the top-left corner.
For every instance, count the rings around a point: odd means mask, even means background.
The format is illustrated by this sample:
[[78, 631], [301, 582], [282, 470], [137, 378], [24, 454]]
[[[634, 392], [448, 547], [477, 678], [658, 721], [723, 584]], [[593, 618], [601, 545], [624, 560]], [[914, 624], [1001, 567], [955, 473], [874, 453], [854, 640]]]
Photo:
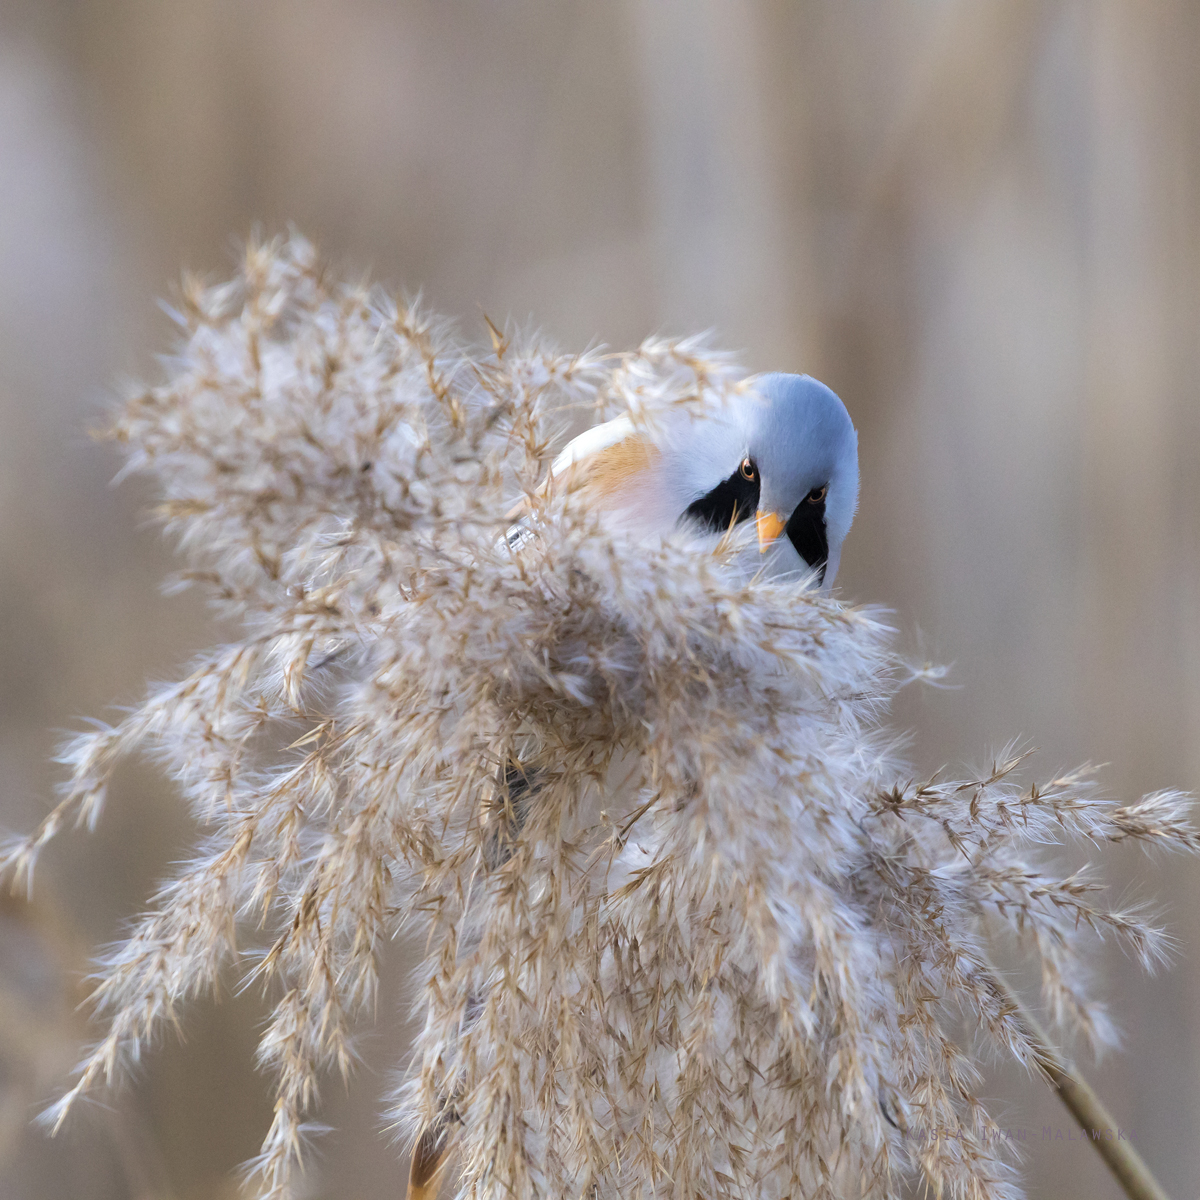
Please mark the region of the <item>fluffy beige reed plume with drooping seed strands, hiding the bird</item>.
[[1186, 798], [1022, 788], [1015, 756], [905, 781], [877, 616], [756, 577], [733, 534], [634, 544], [539, 490], [564, 412], [644, 422], [750, 385], [700, 343], [472, 352], [298, 235], [187, 283], [179, 319], [113, 433], [239, 636], [79, 737], [7, 852], [29, 881], [134, 750], [205, 830], [100, 962], [103, 1033], [55, 1124], [241, 972], [274, 1001], [254, 1165], [286, 1195], [379, 947], [412, 930], [424, 1028], [391, 1117], [455, 1141], [463, 1196], [883, 1196], [914, 1171], [1016, 1194], [954, 1037], [965, 1015], [1037, 1057], [988, 947], [1026, 948], [1051, 1016], [1110, 1039], [1090, 940], [1153, 965], [1163, 935], [1038, 856], [1195, 850]]

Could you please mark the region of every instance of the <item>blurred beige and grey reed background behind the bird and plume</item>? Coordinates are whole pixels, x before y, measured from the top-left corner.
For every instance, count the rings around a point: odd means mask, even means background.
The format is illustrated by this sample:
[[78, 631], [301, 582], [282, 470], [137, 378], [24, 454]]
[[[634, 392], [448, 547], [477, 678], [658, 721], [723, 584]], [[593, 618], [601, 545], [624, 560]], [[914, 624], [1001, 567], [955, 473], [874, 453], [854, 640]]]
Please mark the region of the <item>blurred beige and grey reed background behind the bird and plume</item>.
[[[55, 731], [212, 631], [163, 599], [146, 493], [86, 431], [155, 371], [154, 299], [294, 221], [482, 334], [715, 331], [845, 398], [863, 494], [839, 580], [958, 690], [906, 695], [914, 768], [1013, 737], [1121, 796], [1200, 786], [1200, 7], [1188, 0], [2, 0], [0, 822], [53, 796]], [[85, 1036], [88, 954], [184, 853], [127, 772], [92, 836], [0, 906], [0, 1198], [232, 1196], [269, 1121], [252, 996], [199, 1006], [134, 1087], [28, 1126]], [[1174, 1196], [1200, 1189], [1200, 864], [1116, 853], [1170, 972], [1118, 956], [1092, 1078]], [[331, 1084], [313, 1196], [403, 1194], [365, 1070]], [[1116, 1196], [1001, 1072], [1032, 1196]]]

